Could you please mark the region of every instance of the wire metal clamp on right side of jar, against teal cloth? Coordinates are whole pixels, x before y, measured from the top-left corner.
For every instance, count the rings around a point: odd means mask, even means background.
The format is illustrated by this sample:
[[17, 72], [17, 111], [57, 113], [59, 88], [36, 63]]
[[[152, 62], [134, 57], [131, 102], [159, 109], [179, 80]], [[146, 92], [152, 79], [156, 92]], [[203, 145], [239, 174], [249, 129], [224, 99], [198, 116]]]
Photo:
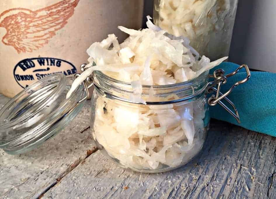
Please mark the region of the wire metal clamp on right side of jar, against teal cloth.
[[[226, 93], [224, 93], [224, 94], [221, 93], [220, 92], [221, 85], [223, 85], [227, 82], [228, 77], [231, 77], [231, 76], [235, 75], [242, 68], [245, 68], [246, 73], [247, 73], [247, 77], [243, 80], [240, 80], [240, 81], [236, 82], [234, 85], [232, 85], [232, 87]], [[210, 106], [216, 106], [217, 104], [220, 104], [226, 111], [228, 111], [237, 120], [238, 123], [241, 123], [237, 108], [235, 107], [233, 102], [231, 102], [231, 100], [227, 98], [227, 96], [233, 91], [233, 89], [236, 86], [238, 86], [239, 84], [243, 84], [243, 83], [247, 82], [247, 80], [249, 80], [249, 78], [251, 76], [249, 68], [248, 68], [247, 65], [243, 64], [243, 65], [239, 66], [239, 68], [237, 68], [232, 73], [229, 73], [227, 75], [224, 75], [224, 73], [225, 72], [223, 71], [223, 69], [217, 69], [216, 71], [214, 71], [213, 75], [209, 75], [210, 78], [214, 78], [214, 81], [209, 82], [208, 87], [207, 87], [207, 91], [208, 91], [208, 93], [213, 93], [215, 91], [216, 94], [212, 95], [208, 99], [208, 104]], [[221, 102], [222, 99], [225, 99], [226, 102], [228, 102], [232, 106], [235, 113], [231, 109], [229, 109], [223, 102]]]

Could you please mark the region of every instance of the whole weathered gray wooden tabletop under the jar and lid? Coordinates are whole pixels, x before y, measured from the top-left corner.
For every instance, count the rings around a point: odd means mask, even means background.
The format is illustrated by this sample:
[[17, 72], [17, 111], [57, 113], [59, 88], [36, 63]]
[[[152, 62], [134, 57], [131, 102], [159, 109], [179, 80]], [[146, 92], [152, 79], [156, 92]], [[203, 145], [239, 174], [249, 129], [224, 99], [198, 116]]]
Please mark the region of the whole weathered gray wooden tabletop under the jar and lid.
[[[0, 108], [7, 101], [0, 95]], [[196, 159], [171, 172], [142, 174], [94, 149], [89, 103], [36, 150], [0, 151], [0, 198], [276, 198], [276, 138], [211, 121]]]

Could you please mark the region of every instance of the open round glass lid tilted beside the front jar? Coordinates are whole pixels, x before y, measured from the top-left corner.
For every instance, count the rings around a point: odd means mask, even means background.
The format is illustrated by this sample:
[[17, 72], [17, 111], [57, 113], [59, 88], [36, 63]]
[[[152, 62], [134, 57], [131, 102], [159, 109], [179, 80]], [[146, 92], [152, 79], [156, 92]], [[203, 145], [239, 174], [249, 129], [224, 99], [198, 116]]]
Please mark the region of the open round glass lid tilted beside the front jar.
[[0, 110], [0, 148], [21, 154], [41, 145], [79, 113], [83, 85], [66, 99], [73, 78], [57, 73], [25, 88]]

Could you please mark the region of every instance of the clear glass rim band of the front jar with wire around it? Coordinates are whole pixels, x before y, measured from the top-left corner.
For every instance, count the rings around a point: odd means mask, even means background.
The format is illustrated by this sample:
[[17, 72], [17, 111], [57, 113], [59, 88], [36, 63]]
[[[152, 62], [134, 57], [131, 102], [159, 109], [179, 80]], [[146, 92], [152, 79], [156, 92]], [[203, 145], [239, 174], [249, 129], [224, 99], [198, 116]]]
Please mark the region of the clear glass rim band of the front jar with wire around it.
[[[209, 71], [205, 71], [196, 78], [176, 84], [142, 85], [141, 98], [145, 99], [146, 104], [168, 104], [192, 99], [206, 90], [209, 82], [208, 74]], [[134, 104], [143, 104], [131, 100], [133, 95], [131, 83], [114, 79], [101, 71], [93, 71], [92, 79], [96, 90], [102, 95]], [[172, 96], [174, 99], [170, 99]]]

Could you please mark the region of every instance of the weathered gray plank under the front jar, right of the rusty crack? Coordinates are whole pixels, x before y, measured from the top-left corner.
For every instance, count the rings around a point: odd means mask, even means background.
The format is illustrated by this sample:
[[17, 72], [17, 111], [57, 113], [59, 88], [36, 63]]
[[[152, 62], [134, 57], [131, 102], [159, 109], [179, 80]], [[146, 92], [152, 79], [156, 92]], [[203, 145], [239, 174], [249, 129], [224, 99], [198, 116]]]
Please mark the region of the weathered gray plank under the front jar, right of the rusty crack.
[[275, 198], [276, 139], [212, 121], [202, 153], [171, 172], [122, 169], [100, 151], [45, 198]]

